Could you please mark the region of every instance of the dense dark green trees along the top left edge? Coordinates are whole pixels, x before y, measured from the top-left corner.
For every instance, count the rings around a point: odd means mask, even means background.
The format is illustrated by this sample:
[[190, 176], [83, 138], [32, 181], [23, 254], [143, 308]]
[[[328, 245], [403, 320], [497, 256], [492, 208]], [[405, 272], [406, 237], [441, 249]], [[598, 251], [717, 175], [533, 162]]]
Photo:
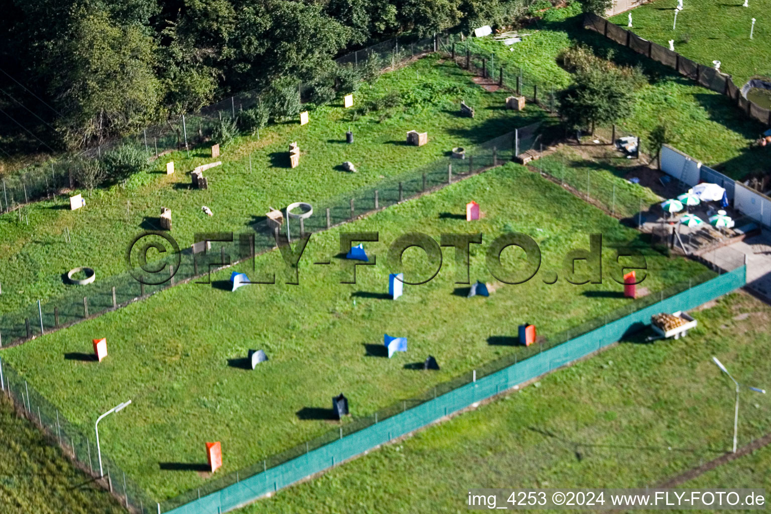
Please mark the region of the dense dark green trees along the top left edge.
[[529, 3], [0, 0], [0, 84], [25, 90], [17, 103], [53, 129], [49, 144], [79, 149], [282, 79], [329, 96], [341, 53], [404, 33], [504, 25]]

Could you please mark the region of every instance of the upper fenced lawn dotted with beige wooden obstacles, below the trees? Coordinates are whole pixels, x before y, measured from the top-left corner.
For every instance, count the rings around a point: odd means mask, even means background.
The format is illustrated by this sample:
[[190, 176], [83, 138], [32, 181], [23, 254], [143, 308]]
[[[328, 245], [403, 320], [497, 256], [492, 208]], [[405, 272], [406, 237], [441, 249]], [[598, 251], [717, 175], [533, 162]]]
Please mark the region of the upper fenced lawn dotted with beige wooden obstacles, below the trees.
[[[355, 109], [395, 94], [401, 104], [364, 116]], [[537, 108], [524, 113], [503, 109], [505, 92], [487, 92], [471, 76], [438, 55], [419, 59], [409, 66], [383, 74], [355, 93], [355, 106], [344, 109], [342, 101], [310, 113], [311, 122], [298, 121], [269, 126], [258, 136], [244, 136], [223, 150], [222, 166], [207, 170], [208, 190], [190, 190], [189, 172], [213, 161], [210, 149], [161, 158], [153, 170], [132, 176], [123, 186], [83, 191], [86, 208], [69, 210], [69, 201], [44, 201], [25, 207], [29, 225], [18, 213], [0, 216], [0, 314], [29, 307], [35, 301], [72, 291], [62, 274], [78, 266], [96, 269], [97, 281], [126, 269], [124, 254], [141, 230], [158, 230], [160, 208], [172, 211], [172, 235], [182, 246], [193, 242], [194, 233], [242, 230], [268, 207], [277, 209], [302, 200], [317, 207], [345, 193], [374, 186], [384, 178], [416, 170], [449, 153], [454, 146], [471, 149], [544, 113]], [[460, 116], [460, 101], [476, 108], [471, 119]], [[192, 130], [188, 126], [189, 130]], [[345, 143], [352, 129], [355, 143]], [[425, 146], [406, 146], [406, 132], [427, 132]], [[301, 149], [300, 166], [289, 168], [288, 145]], [[251, 155], [251, 171], [249, 156]], [[165, 166], [175, 162], [176, 172], [167, 176]], [[339, 170], [352, 161], [359, 173]], [[347, 203], [347, 199], [341, 200]], [[214, 216], [202, 212], [210, 207]], [[155, 223], [155, 225], [153, 225]], [[67, 244], [69, 229], [72, 243]], [[49, 308], [49, 310], [51, 310]]]

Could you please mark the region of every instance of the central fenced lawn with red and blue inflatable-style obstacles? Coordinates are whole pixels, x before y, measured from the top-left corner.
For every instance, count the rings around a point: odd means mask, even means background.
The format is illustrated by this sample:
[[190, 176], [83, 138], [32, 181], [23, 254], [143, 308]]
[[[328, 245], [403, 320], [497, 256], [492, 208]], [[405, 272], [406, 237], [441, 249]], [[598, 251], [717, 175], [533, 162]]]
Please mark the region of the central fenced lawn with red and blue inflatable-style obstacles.
[[[473, 224], [463, 219], [470, 200], [480, 203], [483, 212]], [[359, 267], [357, 284], [341, 284], [350, 275], [335, 257], [342, 230], [379, 231], [378, 243], [364, 244], [376, 254], [377, 264]], [[440, 233], [484, 233], [484, 244], [471, 250], [470, 277], [493, 283], [485, 251], [494, 237], [511, 230], [528, 233], [540, 244], [542, 264], [533, 280], [498, 283], [490, 297], [466, 298], [464, 286], [455, 284], [463, 277], [456, 274], [454, 250], [447, 248], [436, 278], [407, 286], [398, 301], [385, 298], [387, 245], [402, 233], [422, 232], [435, 240]], [[569, 250], [589, 247], [590, 233], [604, 237], [603, 283], [546, 284], [554, 280], [552, 271], [562, 276]], [[651, 294], [704, 272], [690, 260], [651, 252], [639, 237], [561, 187], [509, 163], [313, 236], [299, 265], [299, 285], [284, 284], [280, 254], [273, 251], [257, 258], [256, 270], [246, 264], [237, 269], [253, 281], [275, 272], [277, 284], [227, 291], [227, 270], [213, 277], [214, 287], [172, 287], [9, 348], [2, 357], [86, 433], [99, 413], [131, 398], [125, 415], [100, 425], [103, 452], [150, 494], [164, 499], [200, 485], [207, 476], [162, 470], [160, 463], [206, 462], [204, 442], [222, 442], [222, 472], [233, 472], [335, 428], [312, 413], [330, 408], [332, 396], [340, 392], [350, 399], [353, 416], [369, 415], [523, 351], [507, 339], [520, 323], [534, 323], [548, 337], [628, 304], [611, 279], [619, 245], [644, 251], [648, 277], [642, 286]], [[413, 273], [407, 280], [433, 274], [424, 255], [414, 247], [406, 251], [399, 269]], [[322, 260], [332, 264], [311, 264]], [[521, 270], [524, 254], [510, 247], [503, 261], [507, 269]], [[408, 338], [409, 351], [383, 357], [384, 333]], [[91, 339], [98, 337], [107, 338], [106, 361], [66, 358], [89, 353]], [[241, 368], [250, 348], [263, 348], [270, 359], [256, 371]], [[424, 373], [409, 366], [429, 354], [441, 371]], [[305, 418], [308, 412], [310, 419]]]

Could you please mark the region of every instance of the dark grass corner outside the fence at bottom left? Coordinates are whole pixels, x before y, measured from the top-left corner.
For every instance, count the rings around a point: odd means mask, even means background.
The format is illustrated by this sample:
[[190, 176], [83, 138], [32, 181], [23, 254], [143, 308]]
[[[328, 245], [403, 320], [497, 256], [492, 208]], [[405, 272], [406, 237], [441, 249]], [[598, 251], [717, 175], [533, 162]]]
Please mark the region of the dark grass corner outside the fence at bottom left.
[[119, 514], [116, 499], [72, 467], [62, 451], [0, 398], [0, 512]]

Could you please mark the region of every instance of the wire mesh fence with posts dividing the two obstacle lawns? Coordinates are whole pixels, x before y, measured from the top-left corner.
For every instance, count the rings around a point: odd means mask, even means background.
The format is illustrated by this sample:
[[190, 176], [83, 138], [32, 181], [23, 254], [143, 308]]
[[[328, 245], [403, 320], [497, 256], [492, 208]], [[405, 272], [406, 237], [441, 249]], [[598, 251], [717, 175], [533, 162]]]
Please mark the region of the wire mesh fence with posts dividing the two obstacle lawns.
[[[539, 124], [535, 123], [520, 130], [536, 133], [538, 126]], [[439, 189], [448, 183], [487, 170], [490, 166], [513, 160], [515, 146], [517, 131], [503, 134], [469, 149], [463, 160], [443, 158], [416, 170], [382, 180], [376, 186], [341, 194], [323, 205], [314, 206], [313, 216], [303, 220], [302, 225], [298, 220], [291, 220], [284, 208], [284, 224], [278, 244], [291, 242], [301, 232], [326, 230], [363, 214]], [[142, 284], [135, 277], [142, 276], [143, 272], [135, 269], [95, 281], [86, 289], [73, 288], [71, 294], [56, 301], [35, 303], [21, 311], [5, 314], [0, 317], [0, 346], [21, 344], [42, 334], [113, 311], [183, 281], [203, 277], [210, 269], [229, 266], [238, 260], [251, 258], [254, 254], [272, 250], [276, 247], [277, 240], [271, 227], [272, 222], [267, 218], [257, 220], [248, 230], [244, 230], [243, 234], [234, 235], [235, 240], [231, 247], [221, 247], [221, 251], [215, 251], [214, 254], [193, 254], [190, 245], [194, 241], [179, 241], [180, 252], [172, 253], [157, 263], [159, 267], [163, 265], [161, 274], [165, 275], [143, 277], [143, 281], [147, 283], [163, 281], [161, 284]], [[84, 294], [85, 291], [87, 292]]]

